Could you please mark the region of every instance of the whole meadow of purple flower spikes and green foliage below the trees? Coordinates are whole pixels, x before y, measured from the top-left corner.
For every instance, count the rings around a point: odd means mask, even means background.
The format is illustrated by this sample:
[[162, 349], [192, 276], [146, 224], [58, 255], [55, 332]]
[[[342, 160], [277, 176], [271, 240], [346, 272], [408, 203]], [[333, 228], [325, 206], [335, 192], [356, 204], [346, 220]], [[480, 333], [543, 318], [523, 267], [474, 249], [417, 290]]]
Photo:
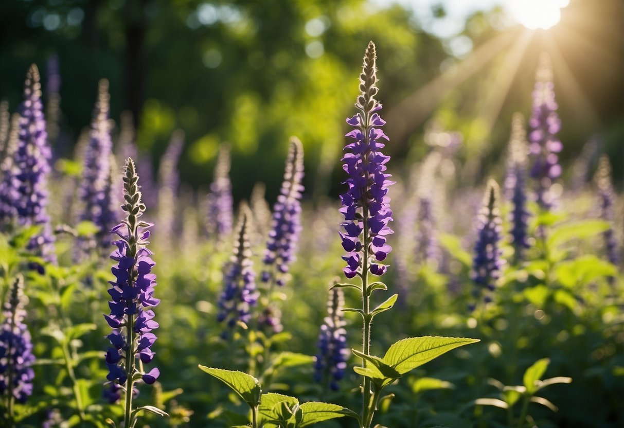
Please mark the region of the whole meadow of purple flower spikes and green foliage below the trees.
[[182, 187], [182, 130], [152, 170], [107, 80], [60, 158], [59, 61], [0, 104], [1, 426], [624, 426], [622, 198], [595, 143], [560, 164], [548, 56], [467, 188], [457, 133], [385, 154], [371, 42], [341, 195], [308, 198], [292, 137], [272, 205], [235, 202], [226, 143]]

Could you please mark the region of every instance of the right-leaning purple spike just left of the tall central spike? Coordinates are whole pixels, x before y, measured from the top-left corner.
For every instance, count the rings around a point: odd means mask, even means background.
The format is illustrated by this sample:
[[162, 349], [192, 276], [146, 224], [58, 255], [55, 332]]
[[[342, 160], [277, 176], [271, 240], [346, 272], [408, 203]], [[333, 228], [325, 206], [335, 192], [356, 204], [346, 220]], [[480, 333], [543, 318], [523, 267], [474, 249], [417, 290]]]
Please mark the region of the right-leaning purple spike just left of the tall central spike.
[[[283, 286], [288, 279], [290, 264], [295, 261], [299, 235], [301, 234], [301, 192], [303, 192], [303, 145], [291, 137], [284, 181], [280, 195], [273, 205], [273, 221], [266, 241], [265, 269], [262, 281], [275, 281]], [[275, 266], [274, 272], [271, 267]]]

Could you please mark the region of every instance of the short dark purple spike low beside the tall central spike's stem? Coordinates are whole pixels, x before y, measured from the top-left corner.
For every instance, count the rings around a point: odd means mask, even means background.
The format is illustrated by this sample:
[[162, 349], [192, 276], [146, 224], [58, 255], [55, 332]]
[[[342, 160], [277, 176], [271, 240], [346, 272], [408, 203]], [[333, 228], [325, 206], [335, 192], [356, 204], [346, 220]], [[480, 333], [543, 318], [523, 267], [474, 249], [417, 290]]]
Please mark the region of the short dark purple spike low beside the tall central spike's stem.
[[343, 379], [349, 349], [347, 349], [347, 332], [344, 329], [346, 322], [342, 315], [344, 306], [343, 291], [334, 288], [329, 291], [327, 316], [321, 325], [316, 347], [316, 362], [314, 362], [314, 381], [329, 384], [333, 391], [338, 391], [338, 382]]

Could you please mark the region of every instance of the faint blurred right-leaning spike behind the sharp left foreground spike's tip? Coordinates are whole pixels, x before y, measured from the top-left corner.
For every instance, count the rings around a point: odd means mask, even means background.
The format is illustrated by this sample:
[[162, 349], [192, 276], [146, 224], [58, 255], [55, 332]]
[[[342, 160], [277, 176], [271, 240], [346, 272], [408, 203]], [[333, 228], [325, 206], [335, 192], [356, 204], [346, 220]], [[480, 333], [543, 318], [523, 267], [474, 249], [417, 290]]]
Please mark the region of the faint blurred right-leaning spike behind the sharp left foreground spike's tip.
[[178, 162], [182, 155], [184, 146], [184, 132], [175, 130], [171, 135], [171, 140], [167, 150], [160, 159], [158, 167], [158, 235], [165, 243], [170, 243], [173, 234], [177, 231], [175, 213], [178, 199], [178, 187], [180, 187], [180, 173], [178, 172]]

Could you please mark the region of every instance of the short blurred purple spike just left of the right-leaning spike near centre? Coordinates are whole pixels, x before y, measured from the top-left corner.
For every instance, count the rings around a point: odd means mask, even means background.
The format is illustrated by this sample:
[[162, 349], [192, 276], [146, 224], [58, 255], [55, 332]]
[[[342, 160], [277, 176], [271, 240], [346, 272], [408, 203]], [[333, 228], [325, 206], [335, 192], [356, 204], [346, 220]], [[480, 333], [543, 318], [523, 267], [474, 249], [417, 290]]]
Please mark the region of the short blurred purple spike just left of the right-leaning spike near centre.
[[[249, 233], [251, 230], [251, 212], [245, 203], [241, 204], [236, 228], [236, 240], [232, 257], [225, 269], [223, 293], [219, 298], [218, 321], [226, 323], [228, 329], [238, 321], [248, 324], [251, 320], [251, 308], [258, 303], [256, 274], [253, 271]], [[223, 333], [227, 337], [228, 333]]]

